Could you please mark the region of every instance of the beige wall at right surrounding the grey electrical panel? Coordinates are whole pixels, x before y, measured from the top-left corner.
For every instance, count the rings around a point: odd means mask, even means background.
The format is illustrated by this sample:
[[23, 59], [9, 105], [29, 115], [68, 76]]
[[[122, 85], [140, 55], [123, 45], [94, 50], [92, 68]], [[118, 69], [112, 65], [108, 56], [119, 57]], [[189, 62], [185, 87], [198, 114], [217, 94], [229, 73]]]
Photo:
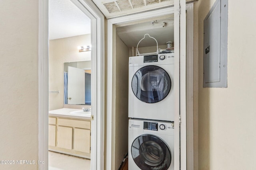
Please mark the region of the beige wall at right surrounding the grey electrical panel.
[[203, 20], [214, 2], [196, 2], [194, 16], [199, 170], [252, 170], [256, 167], [256, 2], [228, 1], [228, 88], [202, 88]]

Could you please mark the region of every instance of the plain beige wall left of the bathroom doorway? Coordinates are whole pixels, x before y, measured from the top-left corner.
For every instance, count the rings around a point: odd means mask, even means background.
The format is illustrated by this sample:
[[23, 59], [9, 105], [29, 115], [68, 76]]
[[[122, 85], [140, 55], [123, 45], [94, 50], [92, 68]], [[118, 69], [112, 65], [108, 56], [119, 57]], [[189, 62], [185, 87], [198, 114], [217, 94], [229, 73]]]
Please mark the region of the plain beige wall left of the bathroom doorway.
[[[0, 7], [0, 160], [37, 162], [38, 0], [1, 0]], [[38, 165], [15, 162], [0, 169]]]

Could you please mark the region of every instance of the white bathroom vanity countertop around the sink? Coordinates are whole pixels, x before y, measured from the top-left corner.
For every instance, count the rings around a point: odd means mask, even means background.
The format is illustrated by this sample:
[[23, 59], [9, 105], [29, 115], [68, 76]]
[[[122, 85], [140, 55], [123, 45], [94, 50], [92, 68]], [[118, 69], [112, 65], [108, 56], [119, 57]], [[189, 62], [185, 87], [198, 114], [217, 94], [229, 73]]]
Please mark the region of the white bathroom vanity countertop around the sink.
[[91, 115], [71, 115], [71, 111], [81, 111], [82, 109], [69, 109], [69, 108], [62, 108], [49, 111], [49, 116], [56, 116], [56, 117], [69, 117], [69, 118], [76, 118], [76, 119], [91, 119]]

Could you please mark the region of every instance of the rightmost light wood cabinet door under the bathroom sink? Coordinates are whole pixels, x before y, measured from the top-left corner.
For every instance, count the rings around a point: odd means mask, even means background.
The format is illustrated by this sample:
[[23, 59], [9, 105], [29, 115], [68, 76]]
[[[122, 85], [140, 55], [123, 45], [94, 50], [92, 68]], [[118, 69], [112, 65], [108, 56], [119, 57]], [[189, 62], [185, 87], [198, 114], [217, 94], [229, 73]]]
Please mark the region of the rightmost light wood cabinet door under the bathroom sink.
[[74, 129], [74, 150], [90, 153], [90, 130]]

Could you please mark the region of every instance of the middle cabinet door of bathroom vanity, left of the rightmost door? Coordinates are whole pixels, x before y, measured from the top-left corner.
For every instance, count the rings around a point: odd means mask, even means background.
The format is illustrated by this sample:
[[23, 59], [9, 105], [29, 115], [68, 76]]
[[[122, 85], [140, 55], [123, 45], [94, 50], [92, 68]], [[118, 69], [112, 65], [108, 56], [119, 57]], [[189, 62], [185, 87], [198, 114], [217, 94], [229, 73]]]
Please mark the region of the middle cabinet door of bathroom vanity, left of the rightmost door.
[[58, 126], [57, 147], [72, 149], [72, 127]]

